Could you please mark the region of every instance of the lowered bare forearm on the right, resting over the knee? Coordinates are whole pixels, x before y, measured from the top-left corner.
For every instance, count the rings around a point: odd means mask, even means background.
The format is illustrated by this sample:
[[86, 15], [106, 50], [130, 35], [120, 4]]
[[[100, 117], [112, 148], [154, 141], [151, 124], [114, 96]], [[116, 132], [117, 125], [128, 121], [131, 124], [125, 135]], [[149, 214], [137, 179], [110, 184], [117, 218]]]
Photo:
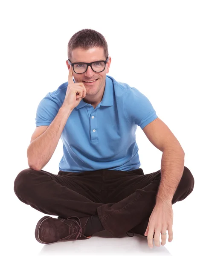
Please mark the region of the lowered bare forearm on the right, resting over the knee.
[[157, 203], [171, 203], [184, 170], [184, 151], [181, 148], [167, 148], [162, 153], [161, 180], [157, 192]]

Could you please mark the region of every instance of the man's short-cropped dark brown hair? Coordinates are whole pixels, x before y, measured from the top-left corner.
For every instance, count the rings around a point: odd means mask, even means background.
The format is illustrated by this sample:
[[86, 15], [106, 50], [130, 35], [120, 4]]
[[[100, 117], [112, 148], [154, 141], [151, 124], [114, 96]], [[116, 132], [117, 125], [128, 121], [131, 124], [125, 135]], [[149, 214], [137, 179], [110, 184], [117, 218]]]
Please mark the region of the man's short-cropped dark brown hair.
[[93, 47], [103, 47], [105, 58], [109, 55], [107, 41], [104, 36], [93, 29], [82, 29], [76, 32], [68, 43], [67, 54], [71, 58], [72, 50], [81, 47], [88, 50]]

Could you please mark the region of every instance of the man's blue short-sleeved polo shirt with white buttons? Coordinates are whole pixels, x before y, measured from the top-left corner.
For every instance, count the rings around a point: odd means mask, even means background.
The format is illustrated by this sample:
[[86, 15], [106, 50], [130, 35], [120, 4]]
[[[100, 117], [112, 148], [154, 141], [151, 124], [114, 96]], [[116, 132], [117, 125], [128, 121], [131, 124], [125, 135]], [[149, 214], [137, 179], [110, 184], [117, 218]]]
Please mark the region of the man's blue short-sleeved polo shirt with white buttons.
[[[36, 112], [36, 127], [50, 125], [64, 102], [67, 86], [68, 81], [41, 100]], [[61, 134], [63, 156], [59, 170], [138, 169], [137, 126], [143, 129], [156, 118], [156, 111], [145, 95], [107, 75], [99, 105], [94, 109], [82, 99], [67, 119]]]

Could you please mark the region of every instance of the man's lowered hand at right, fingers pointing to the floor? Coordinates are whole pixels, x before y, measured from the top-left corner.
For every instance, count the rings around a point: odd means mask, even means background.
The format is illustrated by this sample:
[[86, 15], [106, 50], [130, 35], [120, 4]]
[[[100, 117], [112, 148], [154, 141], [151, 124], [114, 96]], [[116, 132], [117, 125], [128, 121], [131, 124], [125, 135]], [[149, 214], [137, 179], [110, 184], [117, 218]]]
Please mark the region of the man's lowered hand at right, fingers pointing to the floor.
[[[171, 202], [158, 202], [156, 203], [148, 222], [147, 229], [145, 231], [145, 236], [147, 236], [148, 246], [153, 248], [153, 236], [154, 244], [160, 247], [160, 232], [166, 233], [168, 230], [169, 239], [171, 242], [173, 239], [172, 232], [173, 224], [173, 210]], [[167, 235], [162, 236], [162, 245], [165, 245]]]

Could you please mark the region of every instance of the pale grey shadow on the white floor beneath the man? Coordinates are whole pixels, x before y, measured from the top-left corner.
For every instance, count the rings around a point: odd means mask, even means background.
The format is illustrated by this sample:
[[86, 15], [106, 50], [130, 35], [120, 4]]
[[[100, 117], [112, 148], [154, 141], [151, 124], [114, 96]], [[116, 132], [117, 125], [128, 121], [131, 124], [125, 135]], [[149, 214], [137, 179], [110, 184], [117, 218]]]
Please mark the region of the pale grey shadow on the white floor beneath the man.
[[95, 233], [90, 239], [61, 241], [53, 244], [45, 244], [38, 255], [171, 255], [160, 244], [153, 248], [148, 247], [147, 238], [135, 234], [133, 237], [113, 237], [106, 230]]

